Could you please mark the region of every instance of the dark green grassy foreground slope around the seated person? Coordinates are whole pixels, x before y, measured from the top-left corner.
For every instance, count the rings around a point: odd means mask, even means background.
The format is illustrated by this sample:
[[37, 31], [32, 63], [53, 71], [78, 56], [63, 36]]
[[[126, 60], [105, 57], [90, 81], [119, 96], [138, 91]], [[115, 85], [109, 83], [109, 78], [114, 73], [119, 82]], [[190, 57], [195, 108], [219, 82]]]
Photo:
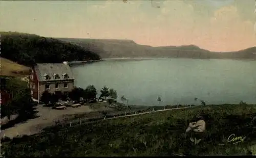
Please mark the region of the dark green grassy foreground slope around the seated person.
[[[202, 140], [195, 145], [185, 134], [188, 123], [201, 113], [206, 121]], [[205, 106], [105, 120], [75, 127], [53, 126], [41, 134], [2, 143], [5, 156], [152, 156], [246, 155], [256, 144], [255, 105]], [[246, 137], [232, 144], [234, 134]], [[255, 151], [252, 151], [255, 153]]]

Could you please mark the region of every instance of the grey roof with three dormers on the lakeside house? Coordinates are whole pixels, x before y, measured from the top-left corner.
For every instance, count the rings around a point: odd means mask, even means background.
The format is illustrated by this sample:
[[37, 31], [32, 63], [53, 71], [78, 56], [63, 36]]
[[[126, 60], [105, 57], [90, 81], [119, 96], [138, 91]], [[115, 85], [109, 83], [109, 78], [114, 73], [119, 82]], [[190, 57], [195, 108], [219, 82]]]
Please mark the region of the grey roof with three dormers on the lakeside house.
[[[74, 80], [73, 73], [67, 64], [63, 63], [40, 63], [36, 64], [35, 72], [38, 81], [63, 81]], [[54, 75], [58, 74], [59, 78], [55, 79]], [[64, 78], [64, 74], [67, 74], [69, 78]], [[46, 80], [46, 75], [50, 76], [50, 80]]]

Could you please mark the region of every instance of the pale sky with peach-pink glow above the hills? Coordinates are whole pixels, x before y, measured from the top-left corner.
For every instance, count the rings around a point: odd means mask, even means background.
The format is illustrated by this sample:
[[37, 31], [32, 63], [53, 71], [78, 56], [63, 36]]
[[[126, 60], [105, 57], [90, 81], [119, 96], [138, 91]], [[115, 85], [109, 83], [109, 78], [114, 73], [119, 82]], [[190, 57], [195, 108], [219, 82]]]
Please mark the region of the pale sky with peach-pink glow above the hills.
[[224, 52], [256, 46], [255, 8], [254, 0], [1, 1], [0, 31]]

